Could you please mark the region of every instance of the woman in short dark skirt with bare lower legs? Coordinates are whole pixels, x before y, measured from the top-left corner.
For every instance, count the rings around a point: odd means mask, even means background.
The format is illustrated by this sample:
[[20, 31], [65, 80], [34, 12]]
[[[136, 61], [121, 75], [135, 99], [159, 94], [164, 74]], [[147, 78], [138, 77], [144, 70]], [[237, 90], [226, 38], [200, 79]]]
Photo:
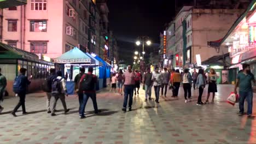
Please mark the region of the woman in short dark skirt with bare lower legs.
[[207, 95], [207, 100], [205, 101], [205, 104], [209, 103], [209, 97], [210, 94], [212, 93], [212, 103], [214, 103], [214, 97], [215, 93], [217, 93], [217, 74], [214, 69], [210, 69], [210, 74], [207, 77], [208, 81], [208, 95]]

